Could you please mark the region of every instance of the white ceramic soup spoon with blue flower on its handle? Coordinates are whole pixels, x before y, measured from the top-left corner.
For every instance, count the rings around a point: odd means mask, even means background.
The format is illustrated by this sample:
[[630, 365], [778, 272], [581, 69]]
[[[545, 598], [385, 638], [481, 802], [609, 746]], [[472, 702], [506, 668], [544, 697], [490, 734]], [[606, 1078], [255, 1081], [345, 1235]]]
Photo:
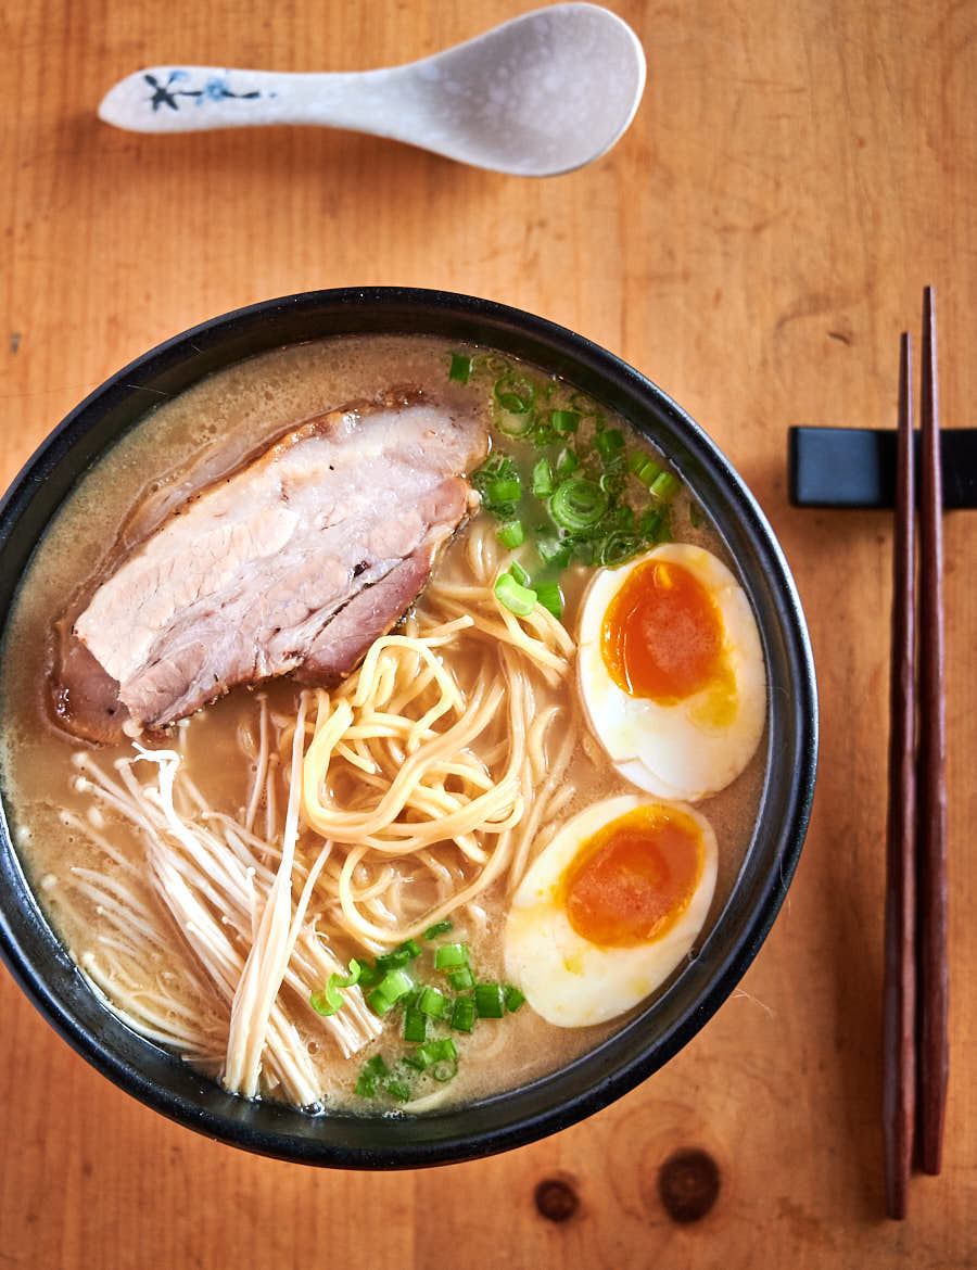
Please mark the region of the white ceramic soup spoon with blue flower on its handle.
[[626, 23], [598, 5], [556, 4], [389, 70], [152, 66], [111, 89], [98, 113], [133, 132], [318, 123], [476, 168], [553, 177], [610, 150], [643, 89], [644, 53]]

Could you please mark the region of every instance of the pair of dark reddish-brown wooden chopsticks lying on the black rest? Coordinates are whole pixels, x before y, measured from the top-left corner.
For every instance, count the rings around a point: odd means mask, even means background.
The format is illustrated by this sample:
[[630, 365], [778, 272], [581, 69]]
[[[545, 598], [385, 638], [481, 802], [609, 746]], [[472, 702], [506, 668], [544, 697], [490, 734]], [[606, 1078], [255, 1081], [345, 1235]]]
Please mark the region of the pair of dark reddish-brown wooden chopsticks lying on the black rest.
[[886, 1212], [892, 1218], [906, 1215], [913, 1153], [924, 1172], [940, 1171], [949, 1068], [943, 481], [931, 287], [922, 296], [920, 390], [917, 663], [912, 342], [903, 334], [893, 544], [883, 1008]]

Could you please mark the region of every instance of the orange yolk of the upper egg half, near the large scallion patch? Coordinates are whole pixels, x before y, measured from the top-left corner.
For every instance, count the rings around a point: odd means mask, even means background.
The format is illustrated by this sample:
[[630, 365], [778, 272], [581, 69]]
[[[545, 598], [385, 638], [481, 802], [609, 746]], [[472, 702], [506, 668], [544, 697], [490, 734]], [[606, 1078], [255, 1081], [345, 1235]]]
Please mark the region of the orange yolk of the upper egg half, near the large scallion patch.
[[648, 560], [628, 574], [607, 606], [601, 654], [629, 696], [673, 705], [724, 678], [719, 611], [689, 569]]

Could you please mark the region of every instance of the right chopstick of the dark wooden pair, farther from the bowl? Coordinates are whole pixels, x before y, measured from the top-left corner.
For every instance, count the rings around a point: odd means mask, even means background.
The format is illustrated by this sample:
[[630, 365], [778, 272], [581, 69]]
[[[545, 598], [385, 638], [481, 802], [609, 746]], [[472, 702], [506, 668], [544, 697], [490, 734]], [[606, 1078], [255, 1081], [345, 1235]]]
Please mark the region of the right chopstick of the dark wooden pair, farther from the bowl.
[[947, 723], [943, 648], [943, 474], [933, 288], [922, 296], [920, 508], [920, 747], [917, 837], [919, 1161], [938, 1173], [949, 1071], [947, 965]]

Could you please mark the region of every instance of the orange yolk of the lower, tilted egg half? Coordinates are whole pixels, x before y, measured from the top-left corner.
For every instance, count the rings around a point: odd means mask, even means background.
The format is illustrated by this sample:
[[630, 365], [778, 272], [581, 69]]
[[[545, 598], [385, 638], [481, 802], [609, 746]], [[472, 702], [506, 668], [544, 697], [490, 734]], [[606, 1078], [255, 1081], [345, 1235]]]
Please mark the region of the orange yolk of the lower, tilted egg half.
[[691, 903], [705, 852], [696, 822], [654, 804], [605, 824], [563, 876], [573, 930], [601, 947], [637, 947], [666, 935]]

